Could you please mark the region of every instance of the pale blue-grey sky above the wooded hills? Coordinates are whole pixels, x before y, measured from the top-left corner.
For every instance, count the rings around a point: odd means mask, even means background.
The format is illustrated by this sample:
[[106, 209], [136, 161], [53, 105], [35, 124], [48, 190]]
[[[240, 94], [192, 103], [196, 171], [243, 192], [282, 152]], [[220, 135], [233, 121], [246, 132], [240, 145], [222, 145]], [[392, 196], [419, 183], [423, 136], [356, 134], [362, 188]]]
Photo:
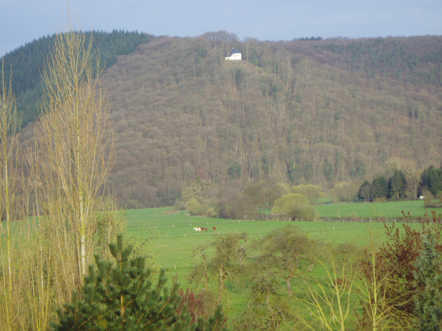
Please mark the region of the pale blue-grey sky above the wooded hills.
[[[441, 0], [70, 0], [69, 7], [83, 30], [191, 37], [227, 30], [259, 40], [442, 34]], [[65, 0], [0, 0], [0, 56], [64, 30], [67, 8]]]

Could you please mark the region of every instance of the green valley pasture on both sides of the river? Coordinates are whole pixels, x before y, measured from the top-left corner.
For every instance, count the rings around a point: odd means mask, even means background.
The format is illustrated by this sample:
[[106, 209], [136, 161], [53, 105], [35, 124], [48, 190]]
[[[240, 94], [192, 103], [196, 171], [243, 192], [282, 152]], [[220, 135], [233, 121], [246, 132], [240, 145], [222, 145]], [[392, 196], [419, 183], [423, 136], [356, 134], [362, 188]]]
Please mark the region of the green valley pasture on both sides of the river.
[[[389, 222], [394, 217], [400, 218], [401, 211], [410, 211], [413, 216], [423, 216], [425, 209], [421, 201], [398, 202], [398, 203], [354, 203], [354, 204], [326, 204], [316, 206], [320, 214], [325, 217], [335, 214], [337, 211], [341, 217], [349, 217], [351, 213], [358, 213], [361, 217], [373, 219], [389, 215]], [[385, 227], [382, 222], [282, 222], [282, 221], [245, 221], [229, 220], [221, 218], [205, 218], [190, 216], [185, 212], [170, 213], [171, 208], [152, 208], [128, 211], [127, 234], [129, 236], [147, 236], [149, 233], [158, 233], [158, 237], [152, 239], [152, 254], [157, 264], [164, 267], [171, 279], [178, 276], [181, 286], [191, 286], [187, 277], [194, 265], [191, 256], [192, 248], [198, 244], [213, 241], [212, 226], [217, 233], [247, 232], [251, 238], [260, 237], [278, 227], [287, 224], [298, 226], [312, 239], [325, 239], [336, 243], [351, 242], [364, 246], [370, 242], [369, 227], [373, 229], [377, 244], [385, 241]], [[345, 215], [345, 216], [344, 216]], [[385, 219], [386, 220], [386, 219]], [[208, 232], [196, 233], [194, 227], [207, 227]], [[401, 229], [402, 225], [397, 224]], [[418, 223], [412, 224], [419, 227]], [[284, 282], [282, 280], [282, 282]], [[216, 286], [211, 282], [211, 286]], [[282, 292], [285, 292], [284, 290]], [[229, 289], [228, 300], [230, 302], [229, 315], [234, 317], [245, 304], [244, 294]]]

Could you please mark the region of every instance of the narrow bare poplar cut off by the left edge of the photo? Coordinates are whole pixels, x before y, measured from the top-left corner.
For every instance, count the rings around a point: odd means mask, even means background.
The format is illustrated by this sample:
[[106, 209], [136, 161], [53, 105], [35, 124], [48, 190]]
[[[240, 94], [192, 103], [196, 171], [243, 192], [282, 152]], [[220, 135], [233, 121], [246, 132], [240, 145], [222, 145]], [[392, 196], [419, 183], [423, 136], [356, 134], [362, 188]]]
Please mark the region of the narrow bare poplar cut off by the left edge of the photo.
[[[4, 62], [2, 61], [0, 84], [0, 215], [2, 221], [5, 221], [6, 226], [6, 260], [7, 268], [4, 268], [3, 287], [5, 289], [4, 295], [0, 301], [5, 302], [3, 308], [7, 318], [7, 326], [11, 325], [12, 312], [9, 311], [8, 303], [11, 302], [12, 293], [12, 261], [11, 261], [11, 220], [15, 214], [13, 207], [15, 204], [15, 194], [17, 188], [18, 165], [17, 154], [19, 150], [19, 141], [17, 139], [17, 132], [20, 127], [20, 118], [17, 114], [15, 106], [15, 96], [11, 90], [11, 77], [9, 83], [5, 81], [4, 77]], [[4, 229], [2, 227], [2, 232]], [[3, 253], [3, 249], [2, 249]], [[4, 259], [2, 259], [4, 260]], [[2, 287], [2, 286], [0, 286]], [[1, 291], [3, 292], [3, 291]]]

